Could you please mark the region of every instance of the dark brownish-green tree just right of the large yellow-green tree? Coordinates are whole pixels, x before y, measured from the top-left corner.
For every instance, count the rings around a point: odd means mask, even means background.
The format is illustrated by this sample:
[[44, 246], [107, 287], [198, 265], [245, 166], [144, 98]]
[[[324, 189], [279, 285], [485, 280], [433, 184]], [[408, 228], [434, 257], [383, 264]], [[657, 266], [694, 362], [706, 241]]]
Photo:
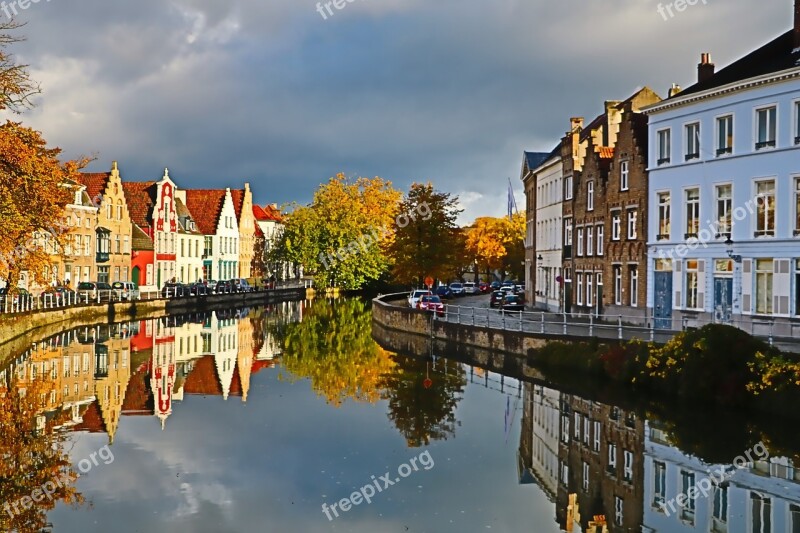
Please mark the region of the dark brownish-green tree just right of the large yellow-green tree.
[[455, 276], [464, 265], [463, 236], [456, 226], [462, 212], [458, 197], [435, 191], [430, 183], [414, 183], [399, 212], [394, 241], [389, 245], [395, 279], [422, 285], [427, 276]]

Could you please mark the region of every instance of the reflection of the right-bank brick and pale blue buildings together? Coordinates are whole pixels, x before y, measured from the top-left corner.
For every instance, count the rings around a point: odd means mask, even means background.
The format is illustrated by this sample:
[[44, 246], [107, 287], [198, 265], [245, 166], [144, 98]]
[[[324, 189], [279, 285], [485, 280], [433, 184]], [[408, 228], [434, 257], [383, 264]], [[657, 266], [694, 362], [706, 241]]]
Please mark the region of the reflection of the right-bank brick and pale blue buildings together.
[[[523, 398], [519, 480], [542, 489], [562, 531], [800, 532], [792, 458], [707, 464], [672, 445], [657, 421], [616, 406], [532, 383]], [[709, 471], [720, 468], [727, 474], [717, 483]], [[706, 483], [708, 497], [670, 510]]]

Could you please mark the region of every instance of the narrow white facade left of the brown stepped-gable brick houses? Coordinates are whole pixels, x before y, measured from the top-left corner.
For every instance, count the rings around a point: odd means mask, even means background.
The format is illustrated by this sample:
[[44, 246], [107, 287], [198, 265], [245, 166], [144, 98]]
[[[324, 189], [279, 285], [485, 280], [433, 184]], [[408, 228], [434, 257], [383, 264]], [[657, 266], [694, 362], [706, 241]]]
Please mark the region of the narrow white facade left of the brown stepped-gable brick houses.
[[[557, 154], [533, 171], [536, 180], [536, 307], [561, 310], [563, 169]], [[539, 259], [541, 258], [541, 259]]]

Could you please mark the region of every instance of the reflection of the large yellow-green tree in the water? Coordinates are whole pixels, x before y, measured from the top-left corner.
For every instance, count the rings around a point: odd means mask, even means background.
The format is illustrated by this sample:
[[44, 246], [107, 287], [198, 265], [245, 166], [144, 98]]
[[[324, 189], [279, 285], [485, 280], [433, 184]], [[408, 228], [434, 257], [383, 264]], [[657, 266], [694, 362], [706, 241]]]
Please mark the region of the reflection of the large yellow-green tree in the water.
[[337, 407], [348, 399], [376, 402], [383, 376], [394, 369], [389, 352], [372, 339], [372, 315], [361, 299], [315, 300], [301, 322], [273, 333], [282, 343], [283, 367], [294, 379], [310, 379]]

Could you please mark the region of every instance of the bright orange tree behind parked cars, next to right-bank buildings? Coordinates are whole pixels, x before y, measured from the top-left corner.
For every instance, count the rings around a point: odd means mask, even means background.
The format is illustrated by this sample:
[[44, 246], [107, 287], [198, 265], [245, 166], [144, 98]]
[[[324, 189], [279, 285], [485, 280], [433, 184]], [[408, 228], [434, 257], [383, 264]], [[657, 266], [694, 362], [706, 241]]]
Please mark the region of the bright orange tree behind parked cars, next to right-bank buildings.
[[[483, 271], [503, 270], [524, 277], [525, 215], [481, 217], [467, 229], [467, 255]], [[522, 274], [522, 275], [520, 275]]]

